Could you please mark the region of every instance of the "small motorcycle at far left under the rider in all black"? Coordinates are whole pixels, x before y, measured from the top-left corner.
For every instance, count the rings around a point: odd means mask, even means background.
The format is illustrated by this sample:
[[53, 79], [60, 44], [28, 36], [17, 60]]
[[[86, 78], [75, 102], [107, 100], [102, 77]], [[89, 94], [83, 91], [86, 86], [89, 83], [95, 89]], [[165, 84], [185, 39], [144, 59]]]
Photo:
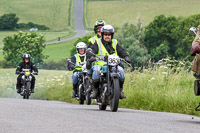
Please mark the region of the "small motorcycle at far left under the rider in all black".
[[37, 75], [37, 73], [31, 73], [29, 69], [22, 69], [22, 72], [20, 72], [20, 74], [23, 74], [20, 95], [23, 96], [23, 99], [29, 99], [29, 97], [31, 96], [31, 74]]

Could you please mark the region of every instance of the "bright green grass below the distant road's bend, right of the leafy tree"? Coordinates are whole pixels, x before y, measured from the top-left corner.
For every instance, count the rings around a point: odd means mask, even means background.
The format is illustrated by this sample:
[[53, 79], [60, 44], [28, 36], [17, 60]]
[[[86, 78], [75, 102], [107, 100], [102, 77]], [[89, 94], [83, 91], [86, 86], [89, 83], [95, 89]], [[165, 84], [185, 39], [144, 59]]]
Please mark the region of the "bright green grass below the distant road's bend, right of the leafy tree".
[[60, 61], [61, 59], [70, 57], [70, 49], [72, 49], [73, 43], [75, 40], [70, 40], [67, 42], [62, 42], [59, 44], [50, 44], [47, 45], [44, 54], [48, 55], [49, 58], [46, 60]]

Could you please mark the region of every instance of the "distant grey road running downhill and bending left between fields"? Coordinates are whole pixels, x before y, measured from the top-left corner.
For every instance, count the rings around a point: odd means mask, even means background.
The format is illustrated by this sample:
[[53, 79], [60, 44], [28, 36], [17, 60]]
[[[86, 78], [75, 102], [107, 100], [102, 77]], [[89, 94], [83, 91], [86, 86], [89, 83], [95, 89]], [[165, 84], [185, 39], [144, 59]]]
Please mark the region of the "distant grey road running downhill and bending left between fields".
[[70, 38], [63, 39], [60, 41], [48, 42], [45, 44], [48, 45], [48, 44], [66, 42], [66, 41], [73, 40], [78, 37], [84, 36], [85, 34], [90, 32], [90, 31], [85, 30], [84, 24], [83, 24], [83, 0], [75, 0], [75, 3], [74, 3], [74, 27], [75, 27], [75, 32], [76, 32], [75, 36], [72, 36]]

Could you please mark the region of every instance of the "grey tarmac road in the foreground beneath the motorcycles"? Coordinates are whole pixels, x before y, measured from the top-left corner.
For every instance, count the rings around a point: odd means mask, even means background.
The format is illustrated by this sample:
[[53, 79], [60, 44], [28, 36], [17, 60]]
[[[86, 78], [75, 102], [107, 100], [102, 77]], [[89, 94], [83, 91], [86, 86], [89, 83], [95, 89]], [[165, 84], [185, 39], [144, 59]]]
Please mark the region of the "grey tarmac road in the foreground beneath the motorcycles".
[[0, 98], [1, 133], [197, 133], [200, 118], [97, 105]]

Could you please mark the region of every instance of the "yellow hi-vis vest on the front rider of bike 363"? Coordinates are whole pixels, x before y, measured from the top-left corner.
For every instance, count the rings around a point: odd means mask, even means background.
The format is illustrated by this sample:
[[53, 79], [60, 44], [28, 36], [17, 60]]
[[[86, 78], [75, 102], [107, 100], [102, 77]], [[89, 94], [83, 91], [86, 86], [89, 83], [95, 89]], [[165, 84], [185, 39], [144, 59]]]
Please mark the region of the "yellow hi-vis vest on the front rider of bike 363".
[[[107, 56], [110, 55], [108, 53], [108, 51], [106, 50], [106, 48], [104, 47], [104, 45], [102, 44], [100, 38], [97, 40], [97, 44], [98, 44], [98, 48], [99, 48], [99, 51], [98, 51], [98, 54], [97, 54], [98, 56], [100, 56], [101, 58], [103, 58], [106, 55]], [[112, 47], [115, 50], [115, 52], [113, 54], [117, 55], [117, 40], [116, 39], [112, 39]], [[95, 65], [99, 65], [99, 66], [103, 66], [105, 64], [106, 64], [106, 62], [103, 62], [103, 61], [96, 61], [95, 62]]]

